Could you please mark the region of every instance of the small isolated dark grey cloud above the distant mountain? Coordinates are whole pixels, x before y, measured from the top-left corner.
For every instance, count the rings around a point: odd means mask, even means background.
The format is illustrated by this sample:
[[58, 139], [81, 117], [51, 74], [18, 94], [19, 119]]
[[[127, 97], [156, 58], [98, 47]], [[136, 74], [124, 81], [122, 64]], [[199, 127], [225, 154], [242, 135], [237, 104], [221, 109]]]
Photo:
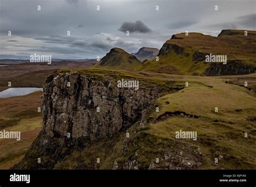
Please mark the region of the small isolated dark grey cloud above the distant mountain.
[[133, 32], [139, 32], [139, 33], [147, 33], [151, 32], [152, 30], [147, 27], [142, 21], [138, 20], [135, 23], [133, 22], [124, 22], [121, 27], [118, 29], [118, 31], [126, 33], [126, 31], [129, 31], [130, 33]]

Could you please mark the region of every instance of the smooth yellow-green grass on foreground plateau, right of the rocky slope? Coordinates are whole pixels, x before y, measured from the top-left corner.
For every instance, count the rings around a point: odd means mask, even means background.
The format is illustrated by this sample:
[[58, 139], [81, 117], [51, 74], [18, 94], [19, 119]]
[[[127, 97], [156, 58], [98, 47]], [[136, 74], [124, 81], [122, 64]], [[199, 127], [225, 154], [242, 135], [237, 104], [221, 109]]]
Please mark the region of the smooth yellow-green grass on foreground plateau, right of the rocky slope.
[[[202, 84], [188, 80], [189, 87], [159, 98], [157, 103], [160, 112], [152, 112], [150, 116], [157, 119], [165, 112], [182, 111], [196, 114], [200, 118], [169, 117], [164, 121], [151, 123], [148, 133], [159, 138], [175, 139], [176, 131], [197, 131], [197, 141], [183, 142], [197, 146], [203, 151], [202, 168], [255, 168], [256, 136], [253, 132], [256, 125], [247, 118], [255, 117], [256, 98], [248, 94], [246, 88], [216, 79], [208, 80], [204, 80]], [[170, 104], [166, 104], [166, 101]], [[214, 111], [216, 106], [218, 112]], [[249, 134], [248, 138], [244, 137], [245, 132]], [[223, 155], [224, 158], [216, 165], [214, 158], [219, 155]]]

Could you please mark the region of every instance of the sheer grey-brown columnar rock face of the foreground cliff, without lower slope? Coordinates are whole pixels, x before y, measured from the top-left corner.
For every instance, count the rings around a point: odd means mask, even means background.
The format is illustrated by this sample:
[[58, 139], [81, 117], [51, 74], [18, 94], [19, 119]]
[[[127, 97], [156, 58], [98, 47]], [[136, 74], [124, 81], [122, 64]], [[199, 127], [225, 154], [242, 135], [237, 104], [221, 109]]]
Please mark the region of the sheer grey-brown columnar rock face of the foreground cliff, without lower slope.
[[56, 76], [44, 88], [43, 133], [51, 138], [70, 133], [89, 141], [111, 138], [134, 123], [157, 96], [155, 88], [120, 89], [109, 77]]

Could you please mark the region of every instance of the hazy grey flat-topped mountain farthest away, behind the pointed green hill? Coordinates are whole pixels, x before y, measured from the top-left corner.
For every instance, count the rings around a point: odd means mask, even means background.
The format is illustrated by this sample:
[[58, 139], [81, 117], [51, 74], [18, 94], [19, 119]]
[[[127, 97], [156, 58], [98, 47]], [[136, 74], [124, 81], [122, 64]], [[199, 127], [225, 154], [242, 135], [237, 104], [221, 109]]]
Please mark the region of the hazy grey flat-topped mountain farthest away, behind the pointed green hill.
[[142, 47], [137, 53], [131, 53], [136, 56], [141, 62], [144, 60], [154, 60], [159, 53], [159, 49], [151, 47]]

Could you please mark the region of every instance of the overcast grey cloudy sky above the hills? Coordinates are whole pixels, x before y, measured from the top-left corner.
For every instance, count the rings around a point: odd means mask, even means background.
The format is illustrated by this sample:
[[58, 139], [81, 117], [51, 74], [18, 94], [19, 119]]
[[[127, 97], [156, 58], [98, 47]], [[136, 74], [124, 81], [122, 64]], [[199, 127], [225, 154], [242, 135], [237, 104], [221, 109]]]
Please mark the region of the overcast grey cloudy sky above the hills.
[[95, 59], [113, 47], [160, 49], [185, 31], [256, 30], [255, 0], [0, 0], [0, 11], [2, 59]]

